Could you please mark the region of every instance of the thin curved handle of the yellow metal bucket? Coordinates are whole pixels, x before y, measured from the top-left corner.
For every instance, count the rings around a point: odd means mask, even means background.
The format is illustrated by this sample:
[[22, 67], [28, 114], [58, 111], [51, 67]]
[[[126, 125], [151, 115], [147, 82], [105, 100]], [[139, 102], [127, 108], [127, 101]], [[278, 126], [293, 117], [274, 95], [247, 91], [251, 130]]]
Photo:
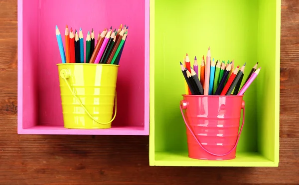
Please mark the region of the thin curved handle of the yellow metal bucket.
[[76, 93], [72, 90], [71, 86], [69, 85], [68, 81], [66, 79], [68, 79], [70, 77], [70, 71], [68, 69], [62, 69], [60, 71], [60, 77], [64, 79], [67, 87], [69, 88], [69, 90], [71, 91], [72, 95], [76, 98], [76, 100], [80, 103], [80, 105], [83, 107], [83, 109], [85, 110], [85, 112], [88, 114], [88, 116], [93, 119], [96, 123], [98, 124], [101, 124], [101, 125], [107, 125], [109, 123], [111, 123], [115, 117], [116, 117], [116, 91], [115, 91], [115, 113], [114, 113], [114, 116], [113, 118], [109, 121], [109, 122], [106, 122], [106, 123], [101, 123], [99, 122], [98, 120], [96, 120], [89, 112], [88, 110], [84, 107], [84, 105], [81, 103], [80, 99], [76, 96]]

